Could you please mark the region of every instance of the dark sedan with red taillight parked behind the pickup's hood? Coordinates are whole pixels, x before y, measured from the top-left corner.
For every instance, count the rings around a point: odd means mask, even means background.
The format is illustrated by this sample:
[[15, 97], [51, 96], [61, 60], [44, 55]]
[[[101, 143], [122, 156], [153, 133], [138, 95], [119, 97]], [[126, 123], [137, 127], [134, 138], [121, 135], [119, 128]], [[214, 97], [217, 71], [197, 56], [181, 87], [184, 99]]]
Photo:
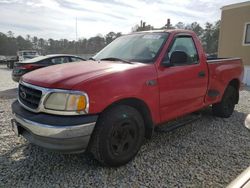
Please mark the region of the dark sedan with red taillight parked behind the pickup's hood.
[[22, 62], [16, 62], [12, 71], [12, 79], [15, 82], [19, 82], [21, 76], [30, 71], [51, 65], [78, 61], [85, 61], [85, 59], [75, 55], [54, 54], [39, 56]]

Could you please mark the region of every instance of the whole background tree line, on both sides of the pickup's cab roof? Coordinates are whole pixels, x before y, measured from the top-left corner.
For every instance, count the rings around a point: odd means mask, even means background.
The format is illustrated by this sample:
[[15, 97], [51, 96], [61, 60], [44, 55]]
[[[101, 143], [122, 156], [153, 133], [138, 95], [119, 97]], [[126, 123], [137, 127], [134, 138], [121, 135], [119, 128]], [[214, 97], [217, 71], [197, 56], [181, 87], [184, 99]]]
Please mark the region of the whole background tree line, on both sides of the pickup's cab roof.
[[[202, 45], [207, 53], [213, 54], [217, 52], [218, 38], [220, 21], [215, 23], [206, 23], [205, 27], [202, 27], [199, 23], [193, 22], [191, 24], [184, 24], [178, 22], [176, 25], [172, 25], [170, 20], [165, 26], [161, 28], [154, 28], [151, 25], [147, 25], [141, 21], [140, 24], [132, 28], [132, 32], [146, 31], [153, 29], [188, 29], [194, 31], [197, 36], [201, 39]], [[7, 33], [0, 32], [0, 55], [16, 55], [18, 50], [37, 50], [40, 54], [58, 54], [58, 53], [69, 53], [69, 54], [94, 54], [105, 47], [107, 44], [112, 42], [117, 37], [121, 36], [122, 33], [109, 32], [105, 36], [97, 35], [89, 39], [81, 38], [75, 40], [55, 40], [55, 39], [43, 39], [36, 36], [31, 37], [27, 35], [15, 36], [12, 31]]]

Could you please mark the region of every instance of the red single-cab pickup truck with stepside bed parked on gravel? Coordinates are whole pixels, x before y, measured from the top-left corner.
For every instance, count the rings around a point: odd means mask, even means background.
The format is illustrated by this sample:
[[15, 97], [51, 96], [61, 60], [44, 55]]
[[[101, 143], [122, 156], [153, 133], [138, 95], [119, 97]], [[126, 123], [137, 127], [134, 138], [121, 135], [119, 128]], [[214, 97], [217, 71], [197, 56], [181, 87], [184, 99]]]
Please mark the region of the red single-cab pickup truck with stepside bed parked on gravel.
[[154, 128], [212, 105], [227, 118], [239, 101], [238, 58], [207, 57], [186, 30], [122, 36], [89, 61], [25, 74], [12, 128], [31, 143], [90, 151], [102, 164], [130, 161]]

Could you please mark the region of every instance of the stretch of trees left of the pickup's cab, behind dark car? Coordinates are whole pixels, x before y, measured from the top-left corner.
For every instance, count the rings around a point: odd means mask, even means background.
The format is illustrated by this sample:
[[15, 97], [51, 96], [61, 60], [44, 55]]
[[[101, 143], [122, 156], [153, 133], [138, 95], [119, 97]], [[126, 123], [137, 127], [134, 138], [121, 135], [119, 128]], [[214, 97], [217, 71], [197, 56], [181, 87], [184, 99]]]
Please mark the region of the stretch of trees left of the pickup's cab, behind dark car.
[[46, 54], [94, 54], [121, 36], [121, 33], [109, 32], [105, 36], [97, 35], [89, 39], [79, 39], [77, 41], [61, 39], [43, 39], [36, 36], [27, 35], [14, 36], [12, 31], [6, 34], [0, 32], [0, 55], [16, 55], [18, 50], [37, 50], [41, 55]]

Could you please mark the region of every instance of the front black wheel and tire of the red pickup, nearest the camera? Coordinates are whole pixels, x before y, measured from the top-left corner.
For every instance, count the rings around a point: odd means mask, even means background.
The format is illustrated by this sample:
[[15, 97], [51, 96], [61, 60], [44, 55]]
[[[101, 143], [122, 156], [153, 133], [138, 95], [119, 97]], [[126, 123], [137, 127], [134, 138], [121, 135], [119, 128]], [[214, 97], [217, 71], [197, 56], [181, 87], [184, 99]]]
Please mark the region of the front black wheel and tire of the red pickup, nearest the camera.
[[127, 105], [114, 106], [101, 114], [90, 141], [90, 152], [105, 166], [128, 163], [145, 138], [141, 114]]

